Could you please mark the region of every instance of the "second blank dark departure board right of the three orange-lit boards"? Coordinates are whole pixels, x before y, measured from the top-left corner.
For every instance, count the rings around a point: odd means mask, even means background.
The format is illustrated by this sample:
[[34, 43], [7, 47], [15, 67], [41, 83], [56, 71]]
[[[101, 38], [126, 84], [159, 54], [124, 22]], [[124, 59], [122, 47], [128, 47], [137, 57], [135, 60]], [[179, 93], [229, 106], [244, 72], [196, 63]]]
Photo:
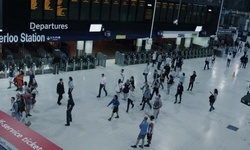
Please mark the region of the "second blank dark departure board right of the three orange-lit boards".
[[90, 16], [90, 1], [81, 0], [81, 9], [80, 9], [80, 20], [88, 21]]

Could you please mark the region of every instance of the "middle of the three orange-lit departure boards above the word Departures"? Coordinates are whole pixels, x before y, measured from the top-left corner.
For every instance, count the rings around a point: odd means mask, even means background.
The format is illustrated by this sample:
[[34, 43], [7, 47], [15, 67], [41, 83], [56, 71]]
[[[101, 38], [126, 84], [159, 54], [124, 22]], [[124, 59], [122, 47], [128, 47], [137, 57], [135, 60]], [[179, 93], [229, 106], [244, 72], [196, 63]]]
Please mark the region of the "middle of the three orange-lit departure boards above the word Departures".
[[55, 20], [56, 19], [56, 1], [44, 0], [44, 19]]

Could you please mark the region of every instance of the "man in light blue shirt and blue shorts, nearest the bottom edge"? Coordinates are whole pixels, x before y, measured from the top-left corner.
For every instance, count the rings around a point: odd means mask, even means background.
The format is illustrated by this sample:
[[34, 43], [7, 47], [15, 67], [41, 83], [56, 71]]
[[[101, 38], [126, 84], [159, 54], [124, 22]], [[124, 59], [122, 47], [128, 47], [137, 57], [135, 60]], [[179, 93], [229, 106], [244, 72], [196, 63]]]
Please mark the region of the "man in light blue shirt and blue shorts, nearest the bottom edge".
[[139, 145], [139, 147], [143, 148], [144, 139], [145, 139], [145, 136], [146, 136], [147, 130], [148, 130], [148, 122], [147, 122], [147, 120], [148, 120], [148, 117], [144, 117], [141, 124], [139, 125], [140, 133], [139, 133], [139, 135], [137, 137], [136, 144], [131, 146], [132, 148], [137, 148], [137, 145], [139, 144], [140, 140], [142, 140], [142, 144]]

